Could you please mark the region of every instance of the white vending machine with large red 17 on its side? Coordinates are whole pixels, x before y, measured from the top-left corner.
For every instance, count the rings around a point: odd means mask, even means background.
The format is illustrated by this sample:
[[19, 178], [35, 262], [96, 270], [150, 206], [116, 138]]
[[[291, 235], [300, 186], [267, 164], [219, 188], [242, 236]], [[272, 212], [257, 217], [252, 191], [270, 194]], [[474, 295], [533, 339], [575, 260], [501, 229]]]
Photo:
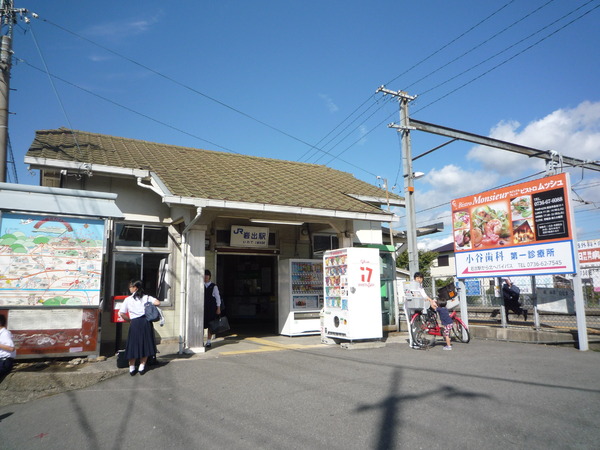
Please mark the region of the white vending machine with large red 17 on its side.
[[375, 248], [325, 252], [325, 336], [348, 340], [383, 337], [379, 266], [379, 250]]

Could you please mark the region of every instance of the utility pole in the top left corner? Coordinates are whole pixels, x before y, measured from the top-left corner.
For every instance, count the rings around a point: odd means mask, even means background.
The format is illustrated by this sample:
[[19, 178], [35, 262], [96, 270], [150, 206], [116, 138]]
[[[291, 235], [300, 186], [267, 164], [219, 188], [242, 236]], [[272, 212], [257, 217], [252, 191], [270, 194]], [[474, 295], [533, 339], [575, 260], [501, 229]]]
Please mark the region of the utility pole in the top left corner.
[[[8, 149], [8, 98], [10, 93], [10, 68], [12, 65], [13, 25], [17, 14], [25, 14], [26, 9], [15, 9], [12, 0], [0, 0], [0, 181], [6, 181]], [[6, 31], [5, 31], [6, 28]]]

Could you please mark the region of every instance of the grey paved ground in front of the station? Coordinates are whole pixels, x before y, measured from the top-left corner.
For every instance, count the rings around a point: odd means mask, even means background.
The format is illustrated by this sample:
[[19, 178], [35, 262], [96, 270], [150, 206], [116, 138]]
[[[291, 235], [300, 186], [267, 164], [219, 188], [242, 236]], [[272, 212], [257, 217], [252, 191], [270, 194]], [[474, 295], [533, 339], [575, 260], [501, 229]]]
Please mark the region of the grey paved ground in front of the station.
[[0, 447], [598, 448], [598, 352], [261, 339], [0, 407]]

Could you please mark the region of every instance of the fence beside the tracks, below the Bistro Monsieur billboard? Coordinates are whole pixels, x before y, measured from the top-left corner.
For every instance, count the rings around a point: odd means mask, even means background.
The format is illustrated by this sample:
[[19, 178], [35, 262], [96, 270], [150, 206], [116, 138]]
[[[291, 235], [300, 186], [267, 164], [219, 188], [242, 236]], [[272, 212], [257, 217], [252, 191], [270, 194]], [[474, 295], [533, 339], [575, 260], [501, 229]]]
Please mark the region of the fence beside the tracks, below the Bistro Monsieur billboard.
[[[588, 332], [600, 335], [600, 265], [582, 268], [581, 278]], [[541, 329], [575, 330], [577, 328], [571, 275], [539, 275], [511, 277], [520, 289], [519, 302], [528, 312], [528, 320], [509, 313], [510, 325], [534, 326]], [[423, 287], [430, 296], [453, 281], [452, 278], [427, 278]], [[502, 286], [495, 278], [465, 279], [469, 321], [502, 323]]]

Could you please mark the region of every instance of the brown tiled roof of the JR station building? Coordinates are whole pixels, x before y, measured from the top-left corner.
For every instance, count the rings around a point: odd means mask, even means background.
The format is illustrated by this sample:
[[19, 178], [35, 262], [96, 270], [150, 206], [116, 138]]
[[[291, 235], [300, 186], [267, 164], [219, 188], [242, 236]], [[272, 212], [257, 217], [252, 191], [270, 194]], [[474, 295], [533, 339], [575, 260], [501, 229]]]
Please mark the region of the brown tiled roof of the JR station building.
[[37, 131], [27, 156], [90, 163], [92, 170], [94, 164], [151, 170], [173, 195], [182, 197], [361, 213], [382, 211], [347, 194], [385, 198], [384, 190], [326, 166], [65, 128]]

